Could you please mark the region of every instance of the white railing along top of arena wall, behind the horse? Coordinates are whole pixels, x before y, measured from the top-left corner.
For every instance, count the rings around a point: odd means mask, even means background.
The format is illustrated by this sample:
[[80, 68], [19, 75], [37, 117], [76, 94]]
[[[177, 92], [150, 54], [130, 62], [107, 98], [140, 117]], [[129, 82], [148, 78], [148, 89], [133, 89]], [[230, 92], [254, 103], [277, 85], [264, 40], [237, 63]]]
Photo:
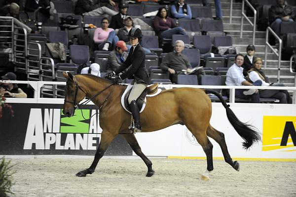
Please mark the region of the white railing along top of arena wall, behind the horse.
[[[59, 81], [12, 81], [12, 80], [3, 80], [0, 82], [5, 83], [27, 83], [32, 86], [34, 89], [34, 98], [7, 98], [8, 103], [51, 103], [53, 98], [41, 98], [41, 88], [44, 85], [66, 85], [66, 82]], [[203, 89], [229, 89], [229, 103], [234, 103], [235, 90], [236, 89], [285, 89], [293, 90], [293, 104], [296, 104], [296, 87], [282, 87], [282, 86], [227, 86], [227, 85], [162, 85], [159, 87], [164, 87], [165, 89], [172, 89], [175, 87], [193, 87], [193, 88], [203, 88]], [[63, 104], [64, 98], [55, 98], [56, 104]], [[93, 105], [92, 102], [90, 104]]]

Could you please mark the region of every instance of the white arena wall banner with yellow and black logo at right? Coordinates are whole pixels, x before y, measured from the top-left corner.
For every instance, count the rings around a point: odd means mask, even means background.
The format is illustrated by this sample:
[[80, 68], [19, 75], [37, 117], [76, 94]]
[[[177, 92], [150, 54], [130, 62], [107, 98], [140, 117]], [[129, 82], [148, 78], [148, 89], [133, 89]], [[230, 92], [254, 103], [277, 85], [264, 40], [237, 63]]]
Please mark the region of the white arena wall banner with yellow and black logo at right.
[[[296, 158], [296, 106], [288, 104], [230, 104], [243, 122], [256, 126], [261, 141], [249, 150], [242, 148], [243, 139], [229, 123], [221, 103], [212, 103], [211, 125], [225, 135], [228, 152], [233, 158]], [[198, 117], [196, 117], [198, 120]], [[142, 151], [148, 156], [205, 157], [202, 147], [183, 125], [173, 125], [153, 133], [136, 135]], [[222, 158], [217, 142], [213, 157]], [[150, 143], [153, 141], [153, 146]], [[165, 144], [164, 144], [165, 142]]]

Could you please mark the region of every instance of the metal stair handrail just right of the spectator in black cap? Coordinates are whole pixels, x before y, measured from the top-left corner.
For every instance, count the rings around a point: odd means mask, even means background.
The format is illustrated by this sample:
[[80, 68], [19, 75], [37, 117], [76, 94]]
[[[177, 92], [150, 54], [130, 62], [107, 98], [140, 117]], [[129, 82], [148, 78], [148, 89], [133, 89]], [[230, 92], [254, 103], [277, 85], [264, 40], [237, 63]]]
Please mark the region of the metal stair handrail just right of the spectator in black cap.
[[[269, 44], [268, 42], [268, 35], [269, 32], [279, 41], [279, 50], [278, 52]], [[278, 56], [278, 76], [277, 76], [277, 82], [280, 82], [280, 74], [281, 74], [281, 58], [282, 58], [282, 39], [280, 39], [280, 37], [278, 37], [278, 35], [276, 35], [276, 33], [270, 28], [267, 27], [266, 29], [266, 39], [265, 39], [265, 56], [264, 56], [264, 69], [266, 69], [266, 65], [267, 65], [267, 46], [271, 49], [271, 51]]]

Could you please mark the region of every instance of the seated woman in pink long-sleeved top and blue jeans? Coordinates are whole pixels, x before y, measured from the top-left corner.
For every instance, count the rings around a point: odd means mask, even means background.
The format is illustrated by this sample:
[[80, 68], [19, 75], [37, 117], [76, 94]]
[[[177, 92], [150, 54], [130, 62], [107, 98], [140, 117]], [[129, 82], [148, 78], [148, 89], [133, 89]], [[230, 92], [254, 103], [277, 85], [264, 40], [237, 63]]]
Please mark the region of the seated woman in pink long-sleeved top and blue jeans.
[[109, 28], [109, 19], [102, 19], [102, 28], [97, 28], [94, 33], [94, 42], [98, 44], [98, 50], [112, 50], [118, 41], [115, 31]]

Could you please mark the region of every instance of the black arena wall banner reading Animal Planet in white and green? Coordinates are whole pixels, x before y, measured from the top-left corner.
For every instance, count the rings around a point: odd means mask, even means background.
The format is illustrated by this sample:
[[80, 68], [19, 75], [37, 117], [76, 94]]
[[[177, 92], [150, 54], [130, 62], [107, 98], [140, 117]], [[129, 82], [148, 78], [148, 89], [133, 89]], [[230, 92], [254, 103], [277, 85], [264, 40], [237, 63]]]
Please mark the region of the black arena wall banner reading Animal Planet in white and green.
[[[95, 154], [102, 133], [96, 106], [82, 110], [85, 120], [80, 110], [66, 117], [60, 104], [11, 105], [14, 117], [4, 111], [0, 118], [0, 155]], [[132, 150], [118, 135], [105, 155], [132, 155]]]

